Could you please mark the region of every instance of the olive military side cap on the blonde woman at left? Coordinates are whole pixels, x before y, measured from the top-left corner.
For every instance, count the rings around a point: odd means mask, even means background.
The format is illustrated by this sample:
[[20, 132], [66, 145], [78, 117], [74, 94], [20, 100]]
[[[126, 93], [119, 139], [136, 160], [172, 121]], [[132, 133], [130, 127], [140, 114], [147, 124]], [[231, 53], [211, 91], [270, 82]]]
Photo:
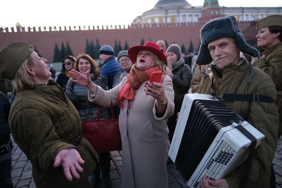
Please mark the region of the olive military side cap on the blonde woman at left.
[[29, 43], [14, 42], [0, 49], [0, 76], [13, 79], [19, 66], [33, 52]]

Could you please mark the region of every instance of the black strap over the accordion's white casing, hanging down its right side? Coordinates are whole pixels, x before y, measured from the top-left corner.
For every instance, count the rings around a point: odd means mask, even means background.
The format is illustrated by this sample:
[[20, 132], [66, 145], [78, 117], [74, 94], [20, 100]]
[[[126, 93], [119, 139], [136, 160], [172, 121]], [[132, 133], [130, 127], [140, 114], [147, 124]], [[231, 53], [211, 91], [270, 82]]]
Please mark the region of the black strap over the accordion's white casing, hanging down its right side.
[[249, 131], [247, 131], [243, 126], [241, 126], [241, 124], [236, 123], [236, 122], [231, 122], [231, 123], [232, 123], [233, 127], [238, 129], [241, 133], [243, 133], [247, 138], [249, 138], [251, 140], [251, 145], [249, 147], [250, 151], [249, 151], [248, 157], [245, 161], [244, 171], [243, 171], [243, 174], [241, 176], [240, 184], [239, 184], [239, 188], [244, 188], [244, 187], [246, 187], [248, 175], [249, 175], [250, 170], [251, 170], [251, 163], [252, 163], [254, 152], [255, 152], [256, 138]]

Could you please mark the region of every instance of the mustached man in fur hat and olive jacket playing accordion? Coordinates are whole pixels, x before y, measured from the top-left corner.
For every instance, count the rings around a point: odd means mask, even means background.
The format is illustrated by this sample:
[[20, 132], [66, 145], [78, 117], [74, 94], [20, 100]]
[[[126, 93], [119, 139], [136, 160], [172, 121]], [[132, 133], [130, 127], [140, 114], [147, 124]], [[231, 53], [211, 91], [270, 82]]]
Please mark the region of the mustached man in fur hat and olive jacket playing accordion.
[[[240, 58], [240, 51], [253, 57], [258, 51], [246, 43], [234, 16], [212, 19], [200, 30], [201, 45], [197, 65], [211, 65], [211, 76], [200, 82], [199, 93], [227, 95], [222, 100], [265, 135], [256, 148], [245, 187], [272, 187], [272, 159], [277, 144], [278, 111], [276, 89], [270, 76]], [[230, 95], [232, 94], [232, 95]], [[244, 94], [244, 95], [238, 95]], [[202, 187], [239, 187], [245, 163], [224, 179], [203, 178]], [[274, 182], [275, 183], [275, 182]], [[275, 185], [275, 184], [274, 184]], [[244, 187], [244, 186], [243, 186]]]

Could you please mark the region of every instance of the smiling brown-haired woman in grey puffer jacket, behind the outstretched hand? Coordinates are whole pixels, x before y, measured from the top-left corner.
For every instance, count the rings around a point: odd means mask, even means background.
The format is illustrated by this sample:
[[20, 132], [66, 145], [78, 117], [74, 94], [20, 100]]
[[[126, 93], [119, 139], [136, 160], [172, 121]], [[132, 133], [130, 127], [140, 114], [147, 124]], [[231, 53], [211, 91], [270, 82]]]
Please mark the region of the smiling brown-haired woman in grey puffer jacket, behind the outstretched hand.
[[[85, 75], [87, 71], [89, 71], [90, 78], [93, 83], [102, 87], [104, 90], [108, 89], [107, 78], [100, 78], [100, 69], [95, 63], [94, 59], [92, 59], [92, 57], [89, 55], [82, 54], [76, 57], [74, 69]], [[88, 89], [86, 87], [74, 83], [71, 79], [69, 79], [67, 83], [66, 94], [74, 104], [81, 120], [96, 119], [99, 106], [88, 100]], [[100, 107], [100, 119], [109, 119], [107, 108]], [[103, 177], [103, 187], [110, 187], [110, 153], [98, 153], [98, 155], [100, 159], [99, 166]], [[93, 185], [93, 187], [97, 187], [100, 182], [100, 169], [96, 168], [93, 174], [93, 179], [91, 180], [91, 185]]]

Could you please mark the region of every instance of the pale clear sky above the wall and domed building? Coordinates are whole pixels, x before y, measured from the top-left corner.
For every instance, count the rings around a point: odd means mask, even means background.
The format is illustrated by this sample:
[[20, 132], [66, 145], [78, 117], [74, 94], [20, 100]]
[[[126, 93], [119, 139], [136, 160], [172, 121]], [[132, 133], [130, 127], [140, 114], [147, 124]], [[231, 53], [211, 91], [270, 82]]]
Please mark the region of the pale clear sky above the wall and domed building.
[[[150, 10], [158, 0], [2, 0], [0, 27], [123, 25]], [[204, 0], [188, 0], [203, 6]], [[225, 7], [281, 7], [281, 0], [218, 0]]]

